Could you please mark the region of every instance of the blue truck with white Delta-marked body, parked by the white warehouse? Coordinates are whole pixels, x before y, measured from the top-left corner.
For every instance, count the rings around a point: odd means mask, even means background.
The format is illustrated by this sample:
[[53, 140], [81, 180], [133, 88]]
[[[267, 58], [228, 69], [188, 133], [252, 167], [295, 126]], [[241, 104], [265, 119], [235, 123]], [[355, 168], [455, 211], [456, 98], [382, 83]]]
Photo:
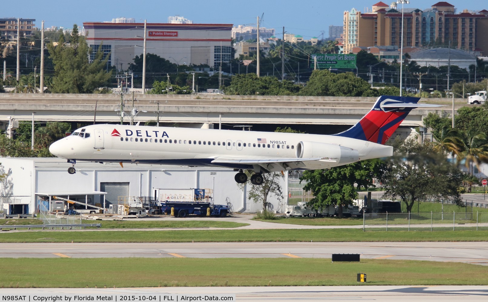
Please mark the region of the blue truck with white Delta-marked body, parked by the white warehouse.
[[228, 206], [213, 203], [211, 189], [155, 189], [155, 196], [166, 215], [226, 217], [229, 213]]

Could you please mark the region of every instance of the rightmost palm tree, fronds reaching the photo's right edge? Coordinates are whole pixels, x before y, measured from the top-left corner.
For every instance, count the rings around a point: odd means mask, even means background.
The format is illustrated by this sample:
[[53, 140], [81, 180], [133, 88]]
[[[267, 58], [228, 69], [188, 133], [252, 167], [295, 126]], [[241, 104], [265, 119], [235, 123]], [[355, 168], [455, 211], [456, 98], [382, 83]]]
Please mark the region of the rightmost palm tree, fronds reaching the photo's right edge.
[[460, 139], [460, 160], [465, 160], [468, 174], [473, 175], [474, 167], [479, 169], [481, 163], [488, 163], [488, 140], [485, 133], [468, 133], [466, 138]]

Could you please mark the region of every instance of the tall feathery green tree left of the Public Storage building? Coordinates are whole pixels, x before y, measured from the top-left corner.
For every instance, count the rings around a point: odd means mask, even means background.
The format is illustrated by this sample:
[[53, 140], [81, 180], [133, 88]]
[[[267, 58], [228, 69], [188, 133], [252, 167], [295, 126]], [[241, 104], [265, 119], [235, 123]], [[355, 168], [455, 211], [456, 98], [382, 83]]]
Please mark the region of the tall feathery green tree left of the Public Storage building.
[[[73, 26], [75, 30], [76, 24]], [[111, 72], [105, 72], [108, 56], [103, 58], [99, 47], [92, 62], [88, 61], [91, 49], [79, 35], [72, 34], [67, 44], [61, 36], [59, 44], [47, 44], [49, 57], [54, 64], [55, 76], [52, 79], [53, 93], [88, 94], [106, 83]], [[100, 45], [102, 46], [102, 45]]]

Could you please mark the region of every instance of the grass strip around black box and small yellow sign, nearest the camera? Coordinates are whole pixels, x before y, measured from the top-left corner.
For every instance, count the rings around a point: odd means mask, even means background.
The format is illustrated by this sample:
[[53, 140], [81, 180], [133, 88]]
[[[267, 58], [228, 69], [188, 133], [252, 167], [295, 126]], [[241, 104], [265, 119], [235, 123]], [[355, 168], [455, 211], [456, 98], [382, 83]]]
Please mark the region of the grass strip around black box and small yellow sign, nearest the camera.
[[[35, 269], [34, 269], [35, 268]], [[406, 260], [284, 258], [2, 259], [0, 287], [487, 285], [488, 266]]]

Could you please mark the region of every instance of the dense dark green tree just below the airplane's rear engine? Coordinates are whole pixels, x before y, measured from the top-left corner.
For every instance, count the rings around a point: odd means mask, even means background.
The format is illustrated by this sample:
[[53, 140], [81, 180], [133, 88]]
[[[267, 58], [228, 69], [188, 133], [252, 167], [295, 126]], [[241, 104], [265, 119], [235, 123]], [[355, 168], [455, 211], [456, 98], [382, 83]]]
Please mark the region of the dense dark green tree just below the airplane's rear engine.
[[315, 209], [339, 206], [342, 217], [342, 207], [358, 197], [355, 184], [358, 188], [372, 187], [383, 166], [378, 160], [366, 160], [326, 170], [305, 170], [300, 180], [306, 181], [304, 190], [311, 190], [315, 196], [307, 205]]

